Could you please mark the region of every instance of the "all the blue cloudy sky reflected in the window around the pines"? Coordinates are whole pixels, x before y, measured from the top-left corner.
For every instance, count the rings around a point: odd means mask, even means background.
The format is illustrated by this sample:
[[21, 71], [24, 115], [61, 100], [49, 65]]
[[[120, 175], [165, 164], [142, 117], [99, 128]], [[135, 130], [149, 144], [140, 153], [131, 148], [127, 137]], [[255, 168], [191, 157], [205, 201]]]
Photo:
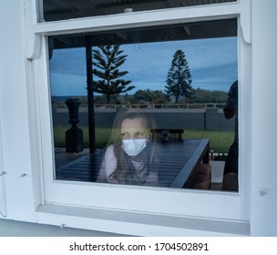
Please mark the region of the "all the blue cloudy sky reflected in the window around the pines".
[[[121, 46], [128, 58], [120, 70], [135, 89], [164, 90], [171, 60], [181, 49], [190, 66], [192, 87], [228, 91], [237, 79], [237, 38], [212, 38]], [[55, 97], [86, 96], [85, 48], [55, 50], [50, 61], [51, 93]]]

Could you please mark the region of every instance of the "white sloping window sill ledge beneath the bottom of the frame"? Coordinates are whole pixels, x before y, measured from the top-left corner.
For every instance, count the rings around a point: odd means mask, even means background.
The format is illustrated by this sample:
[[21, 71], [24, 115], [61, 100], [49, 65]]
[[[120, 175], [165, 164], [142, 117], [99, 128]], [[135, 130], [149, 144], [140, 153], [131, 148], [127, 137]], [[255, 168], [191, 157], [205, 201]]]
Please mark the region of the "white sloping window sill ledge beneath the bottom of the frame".
[[61, 205], [38, 207], [39, 223], [134, 236], [249, 236], [247, 221], [193, 219], [174, 215]]

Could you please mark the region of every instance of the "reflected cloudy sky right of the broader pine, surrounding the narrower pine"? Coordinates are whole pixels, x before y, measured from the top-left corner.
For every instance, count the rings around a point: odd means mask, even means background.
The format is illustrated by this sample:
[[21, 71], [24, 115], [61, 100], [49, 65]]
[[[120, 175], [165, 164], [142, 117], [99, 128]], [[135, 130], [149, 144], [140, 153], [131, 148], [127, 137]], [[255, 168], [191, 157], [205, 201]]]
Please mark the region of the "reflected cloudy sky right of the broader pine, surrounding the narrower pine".
[[[236, 37], [123, 46], [131, 56], [124, 67], [141, 88], [163, 90], [174, 53], [182, 49], [190, 66], [192, 87], [228, 91], [237, 79]], [[122, 66], [123, 67], [123, 66]]]

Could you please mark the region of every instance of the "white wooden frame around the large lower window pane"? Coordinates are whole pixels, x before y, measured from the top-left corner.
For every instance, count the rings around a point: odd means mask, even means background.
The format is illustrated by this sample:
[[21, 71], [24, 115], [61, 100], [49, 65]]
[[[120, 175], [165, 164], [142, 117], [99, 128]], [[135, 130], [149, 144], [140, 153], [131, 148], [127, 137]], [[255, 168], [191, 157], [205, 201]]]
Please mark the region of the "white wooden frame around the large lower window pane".
[[[28, 2], [28, 1], [26, 1]], [[35, 1], [34, 1], [35, 2]], [[26, 12], [33, 13], [34, 6], [26, 5]], [[32, 11], [33, 10], [33, 11]], [[40, 192], [43, 194], [37, 205], [45, 205], [37, 210], [37, 218], [51, 213], [47, 205], [66, 206], [68, 211], [78, 209], [105, 209], [120, 212], [138, 212], [150, 215], [190, 217], [201, 219], [227, 219], [241, 222], [250, 219], [250, 176], [251, 168], [251, 66], [244, 65], [251, 59], [251, 0], [219, 5], [200, 5], [165, 10], [128, 13], [110, 16], [86, 17], [57, 22], [34, 23], [27, 21], [27, 54], [32, 61], [34, 100], [38, 110], [29, 109], [30, 116], [36, 123], [37, 148], [42, 155], [41, 171], [33, 172], [34, 179], [41, 180]], [[113, 28], [132, 28], [139, 26], [157, 26], [209, 21], [225, 18], [238, 18], [239, 48], [239, 87], [240, 101], [240, 191], [220, 192], [190, 189], [145, 188], [53, 179], [54, 152], [51, 120], [51, 100], [47, 66], [46, 36], [66, 35], [83, 32], [108, 31]], [[32, 98], [31, 98], [32, 97]], [[243, 144], [243, 147], [241, 146]], [[35, 148], [33, 148], [35, 149]], [[241, 170], [243, 169], [243, 170]], [[66, 210], [67, 210], [66, 209]], [[54, 213], [54, 211], [53, 211]], [[69, 213], [69, 212], [68, 212]], [[71, 215], [70, 214], [70, 215]], [[82, 214], [80, 214], [82, 215]], [[51, 222], [52, 223], [52, 222]]]

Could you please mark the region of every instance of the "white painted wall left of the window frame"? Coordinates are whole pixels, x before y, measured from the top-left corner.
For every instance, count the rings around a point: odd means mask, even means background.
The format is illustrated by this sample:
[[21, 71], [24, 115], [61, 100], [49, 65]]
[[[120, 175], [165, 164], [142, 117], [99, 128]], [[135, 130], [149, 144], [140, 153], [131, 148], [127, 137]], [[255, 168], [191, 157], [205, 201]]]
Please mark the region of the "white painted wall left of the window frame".
[[[23, 1], [2, 1], [0, 8], [0, 119], [7, 218], [30, 219], [26, 192], [30, 149], [26, 101]], [[25, 174], [27, 174], [25, 176]], [[23, 177], [21, 177], [23, 176]]]

